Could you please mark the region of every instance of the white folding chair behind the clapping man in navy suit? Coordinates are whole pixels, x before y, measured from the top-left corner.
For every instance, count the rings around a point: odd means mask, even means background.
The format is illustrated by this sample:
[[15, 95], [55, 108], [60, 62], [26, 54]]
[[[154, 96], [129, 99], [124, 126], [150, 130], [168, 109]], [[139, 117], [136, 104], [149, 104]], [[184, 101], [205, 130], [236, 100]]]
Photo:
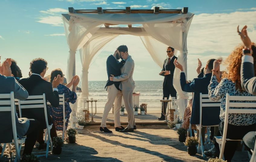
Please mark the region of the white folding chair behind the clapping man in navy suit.
[[[219, 123], [220, 123], [219, 113], [220, 113], [221, 100], [211, 101], [211, 100], [209, 100], [208, 94], [200, 93], [200, 101], [199, 102], [200, 102], [200, 120], [199, 120], [199, 125], [196, 125], [197, 129], [199, 130], [199, 138], [198, 139], [200, 140], [200, 143], [198, 145], [198, 153], [199, 153], [200, 144], [201, 144], [202, 156], [204, 157], [205, 155], [203, 153], [204, 152], [203, 138], [205, 138], [205, 137], [204, 136], [202, 137], [202, 135], [201, 135], [202, 128], [206, 127], [208, 129], [208, 127], [211, 127], [211, 126], [219, 126]], [[207, 112], [204, 112], [204, 114], [203, 114], [203, 109], [204, 110], [206, 109], [206, 111], [207, 111]], [[209, 115], [209, 117], [207, 117], [207, 121], [209, 121], [209, 122], [202, 121], [203, 115], [204, 116]], [[207, 135], [209, 136], [209, 132], [207, 133]]]

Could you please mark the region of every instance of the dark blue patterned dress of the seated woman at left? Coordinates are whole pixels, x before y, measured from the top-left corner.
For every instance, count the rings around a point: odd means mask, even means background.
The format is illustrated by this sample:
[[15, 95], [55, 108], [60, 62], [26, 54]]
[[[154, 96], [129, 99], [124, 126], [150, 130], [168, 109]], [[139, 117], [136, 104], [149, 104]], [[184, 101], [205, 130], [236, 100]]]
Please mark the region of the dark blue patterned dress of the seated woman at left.
[[[71, 113], [71, 108], [69, 105], [69, 102], [74, 104], [76, 102], [76, 93], [70, 91], [69, 88], [66, 86], [59, 84], [57, 86], [57, 89], [59, 91], [59, 95], [62, 95], [64, 93], [65, 95], [65, 118], [66, 118], [66, 129], [68, 126], [69, 118], [70, 118], [70, 113]], [[62, 131], [63, 130], [63, 106], [60, 105], [59, 107], [53, 107], [52, 105], [48, 105], [48, 110], [50, 115], [53, 117], [53, 121], [56, 126], [56, 130]]]

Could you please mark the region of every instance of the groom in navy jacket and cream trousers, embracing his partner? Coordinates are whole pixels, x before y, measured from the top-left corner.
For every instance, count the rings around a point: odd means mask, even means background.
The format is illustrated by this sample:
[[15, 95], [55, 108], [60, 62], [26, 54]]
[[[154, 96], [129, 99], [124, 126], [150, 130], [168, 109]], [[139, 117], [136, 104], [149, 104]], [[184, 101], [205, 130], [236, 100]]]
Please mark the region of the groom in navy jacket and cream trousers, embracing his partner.
[[[124, 57], [122, 58], [122, 61], [119, 62], [118, 60], [121, 58], [120, 54], [118, 54], [117, 50], [115, 51], [115, 53], [113, 55], [110, 55], [107, 58], [107, 74], [108, 74], [108, 81], [107, 84], [105, 86], [105, 88], [107, 88], [107, 92], [108, 92], [108, 101], [105, 104], [104, 107], [104, 112], [102, 115], [102, 121], [101, 121], [101, 126], [100, 126], [100, 131], [106, 132], [106, 133], [111, 133], [112, 131], [109, 130], [106, 126], [106, 121], [107, 121], [107, 117], [109, 114], [109, 111], [111, 110], [111, 107], [115, 101], [115, 98], [117, 97], [117, 95], [121, 96], [122, 98], [122, 92], [119, 89], [119, 85], [120, 85], [120, 81], [119, 82], [114, 82], [114, 81], [110, 81], [109, 77], [110, 76], [119, 76], [121, 75], [121, 67], [124, 66], [125, 64], [125, 59], [127, 59], [127, 54], [124, 55]], [[115, 104], [114, 107], [114, 111], [117, 109], [117, 104]], [[121, 108], [121, 107], [120, 107]], [[124, 127], [121, 126], [120, 123], [120, 117], [118, 117], [120, 115], [119, 111], [115, 111], [114, 112], [114, 122], [115, 122], [115, 130], [119, 131], [124, 129]], [[116, 121], [116, 118], [119, 119], [119, 121]]]

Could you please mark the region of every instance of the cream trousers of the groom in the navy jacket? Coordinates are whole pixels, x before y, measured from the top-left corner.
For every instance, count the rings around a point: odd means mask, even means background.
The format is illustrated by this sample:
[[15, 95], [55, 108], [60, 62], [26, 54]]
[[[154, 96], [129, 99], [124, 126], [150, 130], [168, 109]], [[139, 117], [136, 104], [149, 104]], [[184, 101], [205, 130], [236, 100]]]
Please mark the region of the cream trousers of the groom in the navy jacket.
[[[115, 122], [115, 127], [121, 126], [120, 123], [120, 109], [121, 109], [121, 104], [122, 104], [122, 92], [118, 91], [116, 89], [115, 85], [112, 84], [111, 86], [107, 86], [107, 92], [108, 92], [108, 101], [105, 104], [103, 115], [102, 115], [102, 121], [101, 121], [101, 127], [107, 127], [106, 122], [107, 122], [107, 117], [109, 114], [109, 111], [111, 110], [113, 103], [115, 101], [115, 106], [114, 106], [114, 122]], [[118, 98], [118, 100], [117, 100]], [[116, 102], [119, 102], [119, 98], [121, 98], [120, 106], [119, 103], [117, 104]]]

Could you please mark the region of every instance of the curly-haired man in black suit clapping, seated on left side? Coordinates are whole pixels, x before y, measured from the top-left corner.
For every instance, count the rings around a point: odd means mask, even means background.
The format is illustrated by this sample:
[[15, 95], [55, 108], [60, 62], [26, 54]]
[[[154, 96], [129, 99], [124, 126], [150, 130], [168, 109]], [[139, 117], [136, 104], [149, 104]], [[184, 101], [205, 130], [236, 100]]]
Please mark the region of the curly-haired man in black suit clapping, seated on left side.
[[[21, 79], [19, 83], [28, 91], [29, 95], [43, 95], [50, 104], [54, 107], [59, 106], [59, 93], [57, 86], [60, 84], [60, 75], [53, 79], [53, 82], [47, 82], [43, 79], [46, 70], [47, 62], [42, 58], [36, 58], [30, 63], [31, 75], [28, 78]], [[44, 117], [44, 109], [33, 108], [22, 110], [22, 116], [27, 118], [33, 118], [40, 122], [40, 130], [37, 136], [37, 142], [39, 142], [39, 148], [44, 148], [46, 145], [43, 139], [43, 132], [46, 128], [46, 122]], [[47, 114], [49, 124], [53, 123], [52, 117]], [[50, 132], [51, 138], [57, 136], [55, 125]]]

